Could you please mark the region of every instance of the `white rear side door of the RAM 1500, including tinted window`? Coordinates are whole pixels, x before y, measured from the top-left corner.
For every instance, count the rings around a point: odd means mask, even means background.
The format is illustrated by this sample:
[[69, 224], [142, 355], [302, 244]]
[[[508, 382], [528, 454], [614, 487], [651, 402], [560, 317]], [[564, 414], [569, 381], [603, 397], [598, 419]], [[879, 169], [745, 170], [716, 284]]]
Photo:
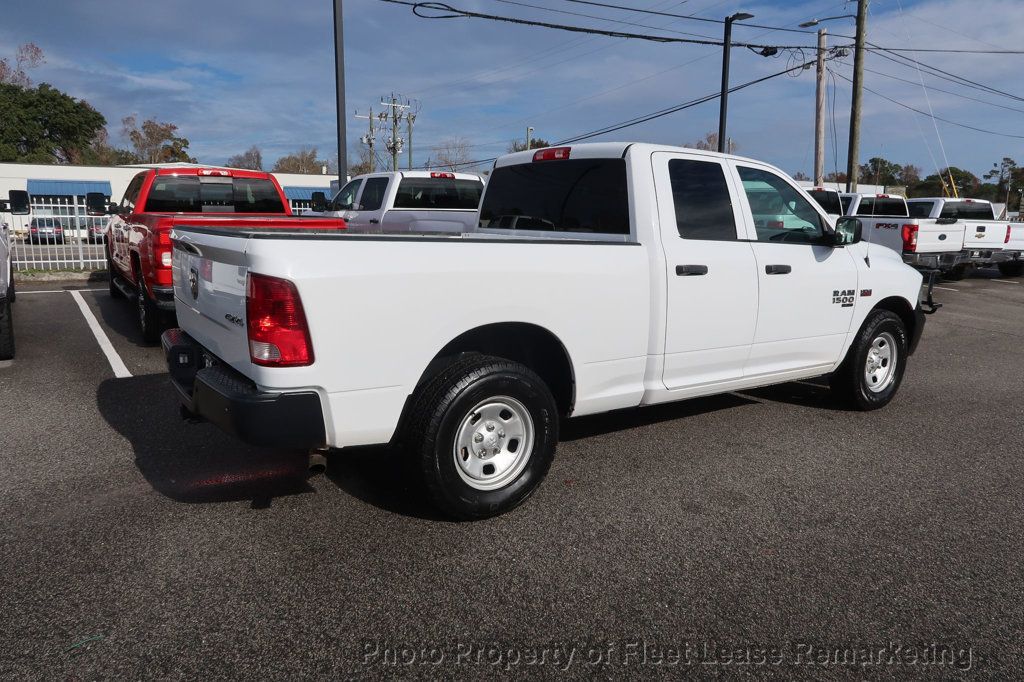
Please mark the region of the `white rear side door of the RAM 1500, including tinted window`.
[[739, 188], [714, 157], [658, 152], [652, 163], [668, 282], [666, 388], [739, 379], [758, 302]]

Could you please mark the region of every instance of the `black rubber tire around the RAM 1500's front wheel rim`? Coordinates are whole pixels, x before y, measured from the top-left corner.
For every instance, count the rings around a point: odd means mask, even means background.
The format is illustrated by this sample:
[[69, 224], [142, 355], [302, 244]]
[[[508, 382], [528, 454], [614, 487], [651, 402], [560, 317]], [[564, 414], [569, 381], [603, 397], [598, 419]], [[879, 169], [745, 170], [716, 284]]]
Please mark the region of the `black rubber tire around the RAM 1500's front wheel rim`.
[[[872, 348], [881, 340], [882, 346], [879, 350], [888, 348], [890, 353], [889, 363], [895, 367], [890, 371], [891, 376], [886, 375], [882, 381], [884, 388], [872, 388], [869, 386], [867, 376], [868, 355]], [[884, 408], [889, 404], [896, 391], [899, 390], [903, 382], [903, 374], [906, 371], [908, 339], [906, 327], [899, 315], [890, 310], [873, 310], [867, 315], [867, 319], [861, 325], [857, 332], [850, 350], [846, 354], [846, 359], [831, 376], [831, 390], [838, 398], [848, 402], [857, 410], [870, 411]], [[895, 354], [893, 354], [895, 350]], [[889, 367], [876, 355], [874, 366], [882, 368]]]

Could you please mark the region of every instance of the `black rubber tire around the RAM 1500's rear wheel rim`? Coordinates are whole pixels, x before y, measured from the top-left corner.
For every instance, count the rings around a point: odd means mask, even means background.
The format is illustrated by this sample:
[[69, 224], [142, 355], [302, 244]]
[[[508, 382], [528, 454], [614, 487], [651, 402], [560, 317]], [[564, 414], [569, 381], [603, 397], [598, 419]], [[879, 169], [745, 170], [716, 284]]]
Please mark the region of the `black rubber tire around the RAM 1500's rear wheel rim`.
[[[532, 444], [524, 462], [508, 467], [509, 479], [499, 480], [500, 487], [479, 489], [467, 482], [456, 463], [456, 440], [473, 411], [499, 396], [512, 398], [528, 413]], [[558, 442], [558, 408], [548, 386], [523, 365], [488, 355], [462, 355], [438, 372], [413, 396], [406, 423], [403, 440], [427, 495], [457, 519], [497, 516], [522, 504], [547, 475]], [[504, 438], [504, 431], [499, 432]], [[514, 452], [514, 442], [508, 442], [509, 452]], [[466, 461], [465, 451], [462, 454]]]

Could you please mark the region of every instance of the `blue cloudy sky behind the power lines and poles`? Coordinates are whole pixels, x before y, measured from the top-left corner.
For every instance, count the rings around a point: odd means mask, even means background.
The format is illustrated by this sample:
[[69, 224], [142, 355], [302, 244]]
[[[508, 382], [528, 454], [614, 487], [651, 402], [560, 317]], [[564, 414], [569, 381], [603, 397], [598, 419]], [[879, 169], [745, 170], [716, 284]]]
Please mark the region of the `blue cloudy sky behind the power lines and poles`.
[[[609, 0], [610, 1], [610, 0]], [[721, 27], [665, 16], [604, 9], [566, 0], [449, 0], [476, 11], [653, 33], [721, 38]], [[519, 4], [517, 4], [519, 3]], [[535, 5], [536, 8], [523, 6]], [[618, 0], [673, 13], [722, 18], [743, 10], [752, 22], [796, 28], [814, 17], [852, 13], [855, 2], [807, 0]], [[579, 12], [609, 20], [551, 11]], [[1024, 45], [1020, 0], [872, 0], [868, 40], [885, 46], [1007, 49]], [[378, 0], [346, 0], [349, 150], [365, 121], [355, 110], [379, 110], [392, 91], [415, 97], [422, 111], [415, 130], [416, 162], [430, 147], [460, 137], [474, 158], [505, 151], [525, 127], [559, 140], [715, 92], [721, 48], [652, 44], [586, 36], [481, 19], [423, 19], [410, 8]], [[852, 35], [853, 22], [829, 22], [830, 33]], [[681, 32], [681, 33], [673, 33]], [[734, 40], [813, 45], [812, 34], [737, 28]], [[115, 141], [128, 114], [176, 123], [203, 162], [222, 163], [251, 144], [269, 164], [304, 145], [335, 154], [335, 103], [331, 0], [35, 0], [7, 7], [0, 52], [33, 41], [47, 55], [32, 74], [93, 103], [108, 119]], [[833, 37], [830, 44], [849, 42]], [[803, 53], [807, 58], [813, 50]], [[732, 83], [785, 69], [796, 52], [774, 58], [734, 49]], [[922, 54], [922, 61], [1024, 95], [1024, 55]], [[852, 56], [835, 63], [852, 73]], [[942, 118], [1024, 136], [1024, 102], [961, 89], [924, 76], [926, 85], [968, 94], [974, 101], [893, 79], [918, 82], [910, 66], [876, 55], [865, 85]], [[830, 135], [826, 170], [846, 166], [849, 83], [837, 78], [836, 154]], [[829, 95], [831, 96], [831, 92]], [[999, 106], [992, 105], [998, 104]], [[814, 74], [781, 77], [733, 93], [729, 133], [737, 153], [810, 173], [813, 160]], [[717, 129], [711, 101], [598, 139], [686, 143]], [[925, 174], [948, 163], [981, 174], [1010, 156], [1024, 163], [1024, 139], [986, 134], [914, 115], [874, 94], [864, 94], [861, 160], [883, 156], [913, 163]]]

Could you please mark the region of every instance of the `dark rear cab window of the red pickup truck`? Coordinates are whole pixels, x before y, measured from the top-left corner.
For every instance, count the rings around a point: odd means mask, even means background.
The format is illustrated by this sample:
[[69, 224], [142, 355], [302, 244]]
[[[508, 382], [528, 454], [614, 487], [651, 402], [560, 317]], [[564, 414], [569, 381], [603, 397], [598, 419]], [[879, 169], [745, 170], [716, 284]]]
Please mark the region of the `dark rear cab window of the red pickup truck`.
[[145, 210], [154, 213], [285, 213], [269, 179], [158, 175]]

